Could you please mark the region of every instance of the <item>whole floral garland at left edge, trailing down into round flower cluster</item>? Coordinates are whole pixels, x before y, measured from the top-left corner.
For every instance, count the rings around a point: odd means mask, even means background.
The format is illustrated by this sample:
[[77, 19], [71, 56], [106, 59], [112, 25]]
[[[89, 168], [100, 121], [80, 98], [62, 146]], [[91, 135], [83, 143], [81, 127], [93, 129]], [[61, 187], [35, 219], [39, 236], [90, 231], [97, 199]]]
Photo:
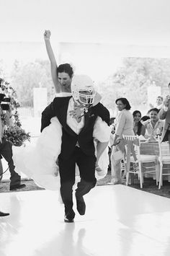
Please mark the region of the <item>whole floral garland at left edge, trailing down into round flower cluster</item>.
[[24, 129], [21, 128], [22, 123], [19, 120], [19, 114], [17, 108], [19, 107], [19, 102], [17, 100], [16, 91], [10, 86], [9, 82], [4, 81], [0, 78], [0, 89], [1, 92], [11, 99], [10, 109], [14, 110], [14, 122], [4, 129], [4, 138], [10, 141], [14, 146], [25, 145], [25, 141], [30, 141], [30, 133], [26, 133]]

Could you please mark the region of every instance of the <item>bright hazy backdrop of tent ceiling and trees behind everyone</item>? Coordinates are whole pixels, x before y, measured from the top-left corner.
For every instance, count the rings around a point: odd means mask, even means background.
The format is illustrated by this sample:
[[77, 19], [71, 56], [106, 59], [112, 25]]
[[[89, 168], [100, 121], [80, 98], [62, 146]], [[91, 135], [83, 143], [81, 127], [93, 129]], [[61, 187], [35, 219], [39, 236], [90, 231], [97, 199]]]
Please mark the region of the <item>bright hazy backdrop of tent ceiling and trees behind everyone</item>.
[[168, 93], [169, 7], [166, 0], [0, 0], [0, 78], [17, 92], [22, 127], [38, 136], [41, 112], [55, 97], [44, 30], [58, 64], [91, 76], [112, 117], [117, 97], [146, 115]]

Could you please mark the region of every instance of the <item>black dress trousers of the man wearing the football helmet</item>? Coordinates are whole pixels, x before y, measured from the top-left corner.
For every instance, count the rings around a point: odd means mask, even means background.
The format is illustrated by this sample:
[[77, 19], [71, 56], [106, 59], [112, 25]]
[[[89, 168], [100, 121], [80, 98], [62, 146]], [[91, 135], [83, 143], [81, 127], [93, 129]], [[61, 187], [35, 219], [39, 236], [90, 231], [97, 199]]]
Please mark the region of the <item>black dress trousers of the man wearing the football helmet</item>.
[[65, 205], [66, 213], [73, 207], [73, 185], [75, 183], [76, 164], [79, 167], [81, 177], [76, 189], [77, 197], [89, 193], [91, 188], [95, 187], [97, 183], [95, 178], [96, 156], [87, 156], [78, 146], [75, 147], [69, 159], [63, 159], [59, 155], [58, 166], [61, 176], [61, 198]]

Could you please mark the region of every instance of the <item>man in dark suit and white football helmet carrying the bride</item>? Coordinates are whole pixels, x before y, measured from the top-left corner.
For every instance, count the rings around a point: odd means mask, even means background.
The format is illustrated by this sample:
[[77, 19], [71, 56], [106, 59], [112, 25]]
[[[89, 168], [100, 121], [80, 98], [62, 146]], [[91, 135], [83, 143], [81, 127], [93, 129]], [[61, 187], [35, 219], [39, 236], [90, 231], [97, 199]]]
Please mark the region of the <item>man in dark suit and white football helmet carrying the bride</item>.
[[[72, 97], [55, 97], [42, 112], [41, 131], [56, 116], [62, 125], [61, 154], [58, 166], [61, 177], [61, 198], [65, 206], [65, 222], [73, 222], [73, 185], [75, 167], [79, 167], [81, 180], [76, 189], [76, 207], [84, 215], [83, 196], [96, 185], [93, 129], [97, 116], [109, 125], [109, 111], [101, 103], [93, 106], [94, 83], [89, 76], [76, 76], [71, 84]], [[79, 106], [79, 107], [77, 107]], [[58, 143], [56, 141], [56, 143]]]

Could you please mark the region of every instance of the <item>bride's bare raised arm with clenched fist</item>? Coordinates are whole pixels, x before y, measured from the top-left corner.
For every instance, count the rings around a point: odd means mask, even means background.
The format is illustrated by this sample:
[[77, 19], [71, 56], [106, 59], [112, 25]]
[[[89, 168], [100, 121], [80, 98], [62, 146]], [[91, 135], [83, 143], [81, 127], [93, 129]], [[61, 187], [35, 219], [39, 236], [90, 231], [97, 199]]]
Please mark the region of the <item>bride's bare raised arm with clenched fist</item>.
[[50, 44], [50, 30], [45, 30], [44, 32], [44, 40], [45, 40], [45, 46], [48, 53], [48, 58], [50, 59], [50, 68], [51, 68], [51, 76], [53, 79], [53, 84], [55, 86], [55, 92], [61, 92], [61, 84], [58, 81], [58, 74], [57, 74], [57, 62], [55, 60], [55, 56], [53, 53], [53, 49]]

